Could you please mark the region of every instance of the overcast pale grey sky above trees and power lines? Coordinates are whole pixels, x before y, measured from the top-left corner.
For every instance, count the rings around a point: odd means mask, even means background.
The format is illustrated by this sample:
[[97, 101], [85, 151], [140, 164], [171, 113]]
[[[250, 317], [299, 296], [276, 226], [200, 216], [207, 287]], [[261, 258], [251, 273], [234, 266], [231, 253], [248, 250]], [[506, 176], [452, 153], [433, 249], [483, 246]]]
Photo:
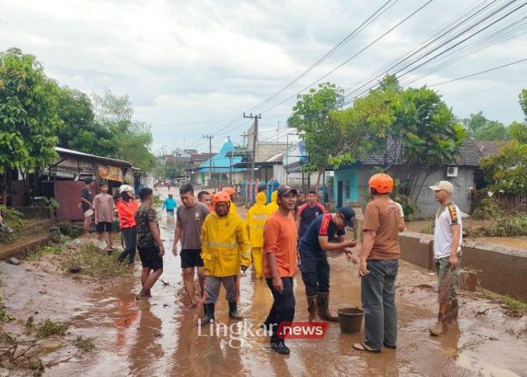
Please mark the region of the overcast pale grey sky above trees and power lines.
[[[241, 143], [248, 120], [230, 121], [274, 94], [363, 23], [386, 0], [325, 1], [28, 1], [0, 0], [0, 50], [16, 46], [44, 64], [49, 77], [88, 94], [128, 94], [135, 118], [152, 124], [155, 153], [165, 145], [218, 148]], [[498, 1], [499, 3], [500, 1]], [[501, 1], [504, 2], [504, 1]], [[426, 0], [399, 0], [378, 20], [263, 112], [315, 82]], [[325, 80], [360, 82], [481, 0], [434, 0]], [[497, 25], [527, 15], [527, 7]], [[519, 24], [519, 26], [521, 26]], [[513, 39], [474, 53], [412, 86], [434, 84], [527, 57], [526, 27]], [[455, 115], [483, 110], [492, 120], [523, 120], [518, 94], [527, 62], [434, 89]], [[404, 82], [403, 82], [404, 84]], [[261, 139], [276, 139], [294, 100], [262, 114]], [[253, 112], [255, 112], [253, 110]], [[178, 123], [201, 124], [179, 124]], [[207, 123], [204, 123], [207, 122]], [[214, 123], [216, 122], [216, 123]], [[287, 131], [278, 136], [285, 141]]]

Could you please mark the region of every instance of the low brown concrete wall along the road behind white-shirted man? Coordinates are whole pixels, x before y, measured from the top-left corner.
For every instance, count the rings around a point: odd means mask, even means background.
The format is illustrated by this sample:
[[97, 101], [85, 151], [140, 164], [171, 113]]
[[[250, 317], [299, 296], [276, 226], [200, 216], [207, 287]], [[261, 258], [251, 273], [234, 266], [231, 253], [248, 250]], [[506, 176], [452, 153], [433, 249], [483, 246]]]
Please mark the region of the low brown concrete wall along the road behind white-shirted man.
[[[435, 270], [434, 237], [405, 232], [399, 236], [401, 259]], [[461, 267], [479, 271], [483, 288], [527, 300], [527, 253], [507, 246], [464, 241]]]

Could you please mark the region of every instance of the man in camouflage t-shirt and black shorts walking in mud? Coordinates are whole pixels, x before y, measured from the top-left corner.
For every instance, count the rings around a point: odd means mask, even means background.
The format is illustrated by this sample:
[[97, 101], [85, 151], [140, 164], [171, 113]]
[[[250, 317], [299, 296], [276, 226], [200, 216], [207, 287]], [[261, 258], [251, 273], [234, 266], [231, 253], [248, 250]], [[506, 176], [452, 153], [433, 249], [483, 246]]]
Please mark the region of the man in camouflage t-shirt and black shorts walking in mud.
[[157, 215], [152, 207], [152, 189], [143, 187], [139, 192], [141, 207], [136, 212], [137, 248], [143, 265], [141, 285], [137, 298], [150, 297], [150, 289], [163, 273], [164, 246], [160, 236]]

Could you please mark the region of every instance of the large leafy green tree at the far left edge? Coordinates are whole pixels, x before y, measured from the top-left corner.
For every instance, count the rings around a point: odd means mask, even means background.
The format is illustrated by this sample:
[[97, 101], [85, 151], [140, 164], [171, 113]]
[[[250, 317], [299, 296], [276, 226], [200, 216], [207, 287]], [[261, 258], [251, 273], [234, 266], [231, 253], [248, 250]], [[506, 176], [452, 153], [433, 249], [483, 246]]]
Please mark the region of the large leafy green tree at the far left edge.
[[0, 172], [4, 173], [4, 197], [11, 169], [21, 169], [27, 188], [25, 174], [38, 172], [57, 157], [54, 147], [61, 124], [58, 85], [46, 77], [37, 58], [20, 49], [1, 52]]

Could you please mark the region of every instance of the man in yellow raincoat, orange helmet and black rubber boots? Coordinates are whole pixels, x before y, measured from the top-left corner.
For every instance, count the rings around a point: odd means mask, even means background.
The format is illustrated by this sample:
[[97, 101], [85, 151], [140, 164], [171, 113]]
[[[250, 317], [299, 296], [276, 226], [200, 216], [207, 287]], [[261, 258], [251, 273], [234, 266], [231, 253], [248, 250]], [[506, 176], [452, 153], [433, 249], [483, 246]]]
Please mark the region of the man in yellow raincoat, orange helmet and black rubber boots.
[[214, 212], [205, 218], [201, 230], [201, 257], [205, 274], [205, 313], [201, 326], [214, 322], [214, 305], [222, 283], [227, 291], [229, 317], [242, 319], [238, 314], [236, 282], [240, 267], [245, 272], [251, 265], [245, 223], [240, 216], [230, 212], [232, 203], [228, 193], [216, 193], [212, 205]]

